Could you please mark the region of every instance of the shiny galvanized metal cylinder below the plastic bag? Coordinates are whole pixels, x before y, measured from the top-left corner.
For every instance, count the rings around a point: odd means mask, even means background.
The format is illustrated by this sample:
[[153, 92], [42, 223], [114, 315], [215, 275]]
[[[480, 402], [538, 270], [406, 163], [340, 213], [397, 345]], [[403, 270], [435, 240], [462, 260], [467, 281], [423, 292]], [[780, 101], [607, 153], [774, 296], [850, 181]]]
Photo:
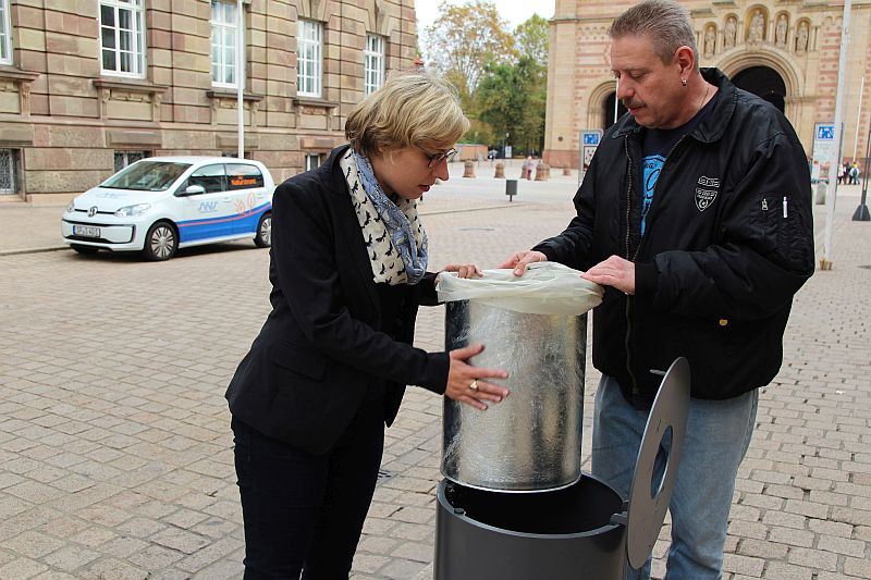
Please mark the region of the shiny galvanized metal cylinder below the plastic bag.
[[511, 395], [487, 411], [444, 399], [442, 474], [506, 492], [565, 488], [581, 476], [587, 314], [447, 304], [449, 350], [482, 343], [477, 367], [505, 369]]

